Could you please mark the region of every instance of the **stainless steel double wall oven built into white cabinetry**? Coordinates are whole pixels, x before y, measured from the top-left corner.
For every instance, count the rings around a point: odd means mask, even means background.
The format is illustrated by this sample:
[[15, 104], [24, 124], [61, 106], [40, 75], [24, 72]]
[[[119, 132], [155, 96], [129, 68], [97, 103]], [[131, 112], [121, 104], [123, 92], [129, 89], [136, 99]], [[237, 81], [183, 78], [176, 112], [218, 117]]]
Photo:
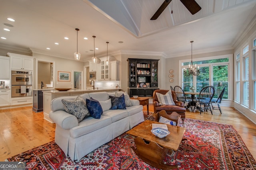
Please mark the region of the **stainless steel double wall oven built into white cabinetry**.
[[12, 97], [32, 96], [32, 71], [12, 70]]

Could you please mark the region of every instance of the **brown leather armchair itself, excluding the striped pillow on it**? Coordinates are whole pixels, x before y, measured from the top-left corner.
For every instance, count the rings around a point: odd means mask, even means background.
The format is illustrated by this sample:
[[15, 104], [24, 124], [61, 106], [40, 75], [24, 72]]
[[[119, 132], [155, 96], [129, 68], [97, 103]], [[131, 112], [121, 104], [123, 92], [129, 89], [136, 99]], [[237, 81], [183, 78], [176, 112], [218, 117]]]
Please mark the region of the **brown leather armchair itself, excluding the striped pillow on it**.
[[[180, 102], [180, 101], [176, 101], [177, 96], [175, 91], [171, 90], [171, 94], [172, 94], [172, 99], [173, 102], [172, 104], [161, 104], [161, 102], [159, 102], [158, 100], [158, 96], [160, 96], [156, 93], [160, 93], [162, 95], [166, 95], [166, 93], [168, 92], [168, 94], [170, 94], [169, 92], [170, 90], [155, 90], [153, 93], [153, 104], [154, 104], [154, 113], [157, 113], [161, 110], [165, 110], [166, 113], [168, 115], [170, 115], [172, 112], [177, 112], [179, 115], [181, 115], [181, 119], [184, 120], [185, 119], [185, 112], [186, 112], [186, 108], [184, 107], [184, 103]], [[168, 97], [168, 96], [166, 96]]]

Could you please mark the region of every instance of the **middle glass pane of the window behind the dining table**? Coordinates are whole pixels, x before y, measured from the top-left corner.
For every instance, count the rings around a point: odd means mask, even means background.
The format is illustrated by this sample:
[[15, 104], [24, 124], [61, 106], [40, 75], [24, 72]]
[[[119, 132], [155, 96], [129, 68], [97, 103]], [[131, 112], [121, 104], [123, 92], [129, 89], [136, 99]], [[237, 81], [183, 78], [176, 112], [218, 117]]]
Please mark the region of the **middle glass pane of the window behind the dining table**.
[[200, 67], [200, 75], [196, 76], [196, 91], [200, 90], [206, 86], [209, 86], [209, 67]]

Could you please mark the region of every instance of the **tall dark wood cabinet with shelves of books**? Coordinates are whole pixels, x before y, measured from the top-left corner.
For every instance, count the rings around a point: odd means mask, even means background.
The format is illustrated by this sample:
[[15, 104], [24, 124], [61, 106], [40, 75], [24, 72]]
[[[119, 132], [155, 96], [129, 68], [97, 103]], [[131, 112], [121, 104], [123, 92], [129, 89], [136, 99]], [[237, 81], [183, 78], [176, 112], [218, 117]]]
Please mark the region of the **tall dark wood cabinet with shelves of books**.
[[127, 59], [128, 92], [132, 96], [152, 96], [158, 87], [158, 60]]

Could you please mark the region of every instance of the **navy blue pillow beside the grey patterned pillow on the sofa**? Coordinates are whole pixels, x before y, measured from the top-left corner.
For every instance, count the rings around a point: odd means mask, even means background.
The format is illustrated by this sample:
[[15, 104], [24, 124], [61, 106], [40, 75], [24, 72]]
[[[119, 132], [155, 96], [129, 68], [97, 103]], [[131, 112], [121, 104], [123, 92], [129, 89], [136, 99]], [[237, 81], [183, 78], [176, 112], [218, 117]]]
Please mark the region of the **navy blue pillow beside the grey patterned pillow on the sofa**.
[[86, 106], [89, 110], [90, 115], [95, 119], [100, 119], [101, 114], [103, 113], [100, 102], [93, 98], [86, 99]]

